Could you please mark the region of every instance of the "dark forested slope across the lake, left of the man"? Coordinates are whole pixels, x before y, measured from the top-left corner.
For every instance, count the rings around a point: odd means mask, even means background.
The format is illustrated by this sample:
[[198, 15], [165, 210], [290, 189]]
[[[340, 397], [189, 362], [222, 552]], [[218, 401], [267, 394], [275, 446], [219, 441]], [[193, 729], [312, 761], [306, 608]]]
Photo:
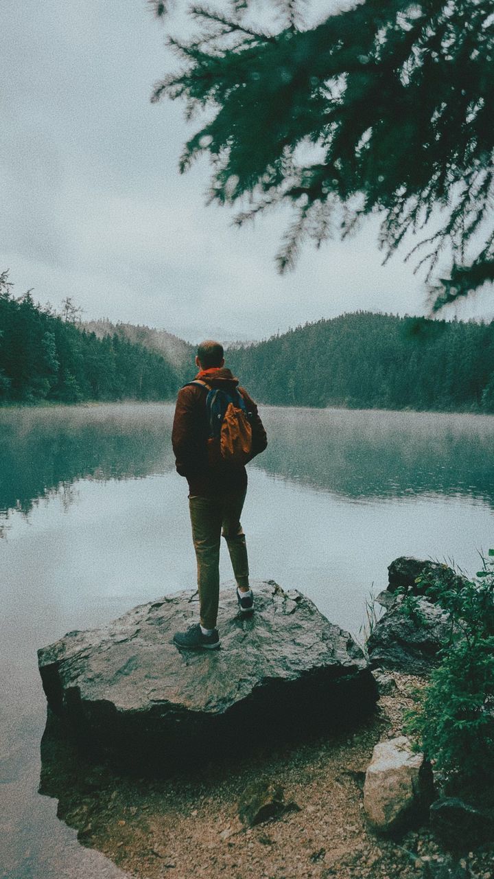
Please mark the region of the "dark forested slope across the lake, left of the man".
[[[0, 275], [0, 402], [171, 400], [178, 370], [118, 333], [98, 338], [36, 305], [13, 298]], [[184, 343], [185, 345], [185, 343]]]

